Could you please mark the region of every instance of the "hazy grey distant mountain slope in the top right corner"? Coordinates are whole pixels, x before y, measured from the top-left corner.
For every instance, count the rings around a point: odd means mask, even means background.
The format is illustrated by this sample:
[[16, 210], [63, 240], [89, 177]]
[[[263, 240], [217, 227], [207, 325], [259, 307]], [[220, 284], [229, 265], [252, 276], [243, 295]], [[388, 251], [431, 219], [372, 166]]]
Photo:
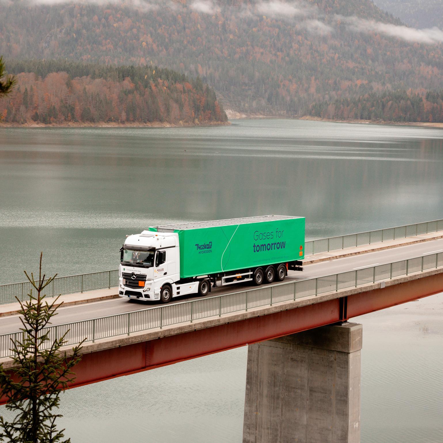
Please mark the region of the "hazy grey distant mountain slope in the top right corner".
[[375, 0], [385, 11], [418, 28], [443, 28], [442, 0]]

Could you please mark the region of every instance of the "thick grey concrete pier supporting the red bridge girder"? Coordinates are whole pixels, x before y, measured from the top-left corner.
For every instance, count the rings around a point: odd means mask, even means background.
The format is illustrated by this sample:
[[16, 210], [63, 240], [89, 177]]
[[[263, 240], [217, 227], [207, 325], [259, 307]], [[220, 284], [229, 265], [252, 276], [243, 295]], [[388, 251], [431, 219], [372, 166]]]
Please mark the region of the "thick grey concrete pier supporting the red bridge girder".
[[244, 443], [359, 443], [362, 325], [248, 348]]

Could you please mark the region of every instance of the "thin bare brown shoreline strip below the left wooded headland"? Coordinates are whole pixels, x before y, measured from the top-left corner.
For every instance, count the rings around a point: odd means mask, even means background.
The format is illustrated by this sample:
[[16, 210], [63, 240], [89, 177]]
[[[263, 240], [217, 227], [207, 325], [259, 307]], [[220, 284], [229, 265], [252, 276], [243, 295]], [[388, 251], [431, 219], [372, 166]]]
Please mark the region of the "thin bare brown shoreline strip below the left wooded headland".
[[230, 121], [196, 121], [194, 123], [183, 122], [170, 123], [162, 121], [153, 121], [148, 123], [114, 123], [114, 122], [98, 122], [98, 123], [87, 123], [87, 122], [66, 122], [66, 123], [3, 123], [0, 122], [0, 128], [184, 128], [184, 127], [195, 127], [195, 126], [229, 126]]

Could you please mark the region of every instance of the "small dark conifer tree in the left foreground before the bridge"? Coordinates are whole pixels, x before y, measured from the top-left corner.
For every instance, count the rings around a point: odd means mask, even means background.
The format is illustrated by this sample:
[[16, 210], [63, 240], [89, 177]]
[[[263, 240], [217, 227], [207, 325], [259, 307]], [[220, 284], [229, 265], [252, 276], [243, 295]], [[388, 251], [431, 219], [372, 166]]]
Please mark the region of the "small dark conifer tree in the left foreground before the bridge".
[[[13, 367], [0, 365], [0, 397], [6, 397], [6, 408], [16, 412], [8, 422], [0, 417], [0, 441], [8, 443], [69, 443], [55, 421], [60, 414], [60, 394], [74, 380], [72, 368], [80, 361], [82, 343], [72, 348], [70, 355], [62, 351], [66, 345], [66, 331], [60, 337], [50, 337], [48, 326], [57, 315], [58, 297], [48, 303], [43, 289], [55, 276], [42, 275], [40, 254], [39, 276], [25, 271], [31, 283], [29, 299], [20, 303], [21, 334], [12, 339]], [[58, 305], [60, 306], [60, 305]]]

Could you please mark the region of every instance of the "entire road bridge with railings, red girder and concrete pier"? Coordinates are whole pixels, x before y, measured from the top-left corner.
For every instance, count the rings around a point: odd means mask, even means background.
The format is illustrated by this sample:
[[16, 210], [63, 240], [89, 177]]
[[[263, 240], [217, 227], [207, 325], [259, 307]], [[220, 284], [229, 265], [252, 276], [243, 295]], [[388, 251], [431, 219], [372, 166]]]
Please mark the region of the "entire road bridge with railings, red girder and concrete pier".
[[[362, 328], [348, 320], [443, 291], [443, 220], [305, 247], [305, 271], [279, 284], [161, 306], [111, 298], [62, 307], [50, 336], [69, 331], [68, 353], [87, 340], [72, 387], [249, 345], [245, 442], [360, 441]], [[114, 272], [62, 277], [53, 290], [116, 292]], [[26, 284], [0, 286], [0, 299], [11, 291], [26, 294]], [[0, 325], [0, 362], [10, 368], [18, 316]]]

